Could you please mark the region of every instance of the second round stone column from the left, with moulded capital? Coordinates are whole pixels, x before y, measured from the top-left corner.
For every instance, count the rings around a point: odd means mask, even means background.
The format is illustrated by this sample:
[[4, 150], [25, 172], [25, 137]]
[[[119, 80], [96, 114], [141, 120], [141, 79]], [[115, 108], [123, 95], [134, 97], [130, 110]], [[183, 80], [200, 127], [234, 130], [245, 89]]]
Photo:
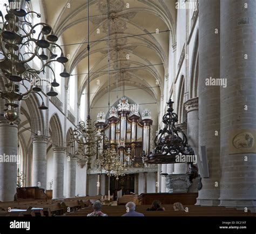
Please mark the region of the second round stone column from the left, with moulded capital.
[[46, 150], [48, 136], [33, 135], [32, 186], [46, 189]]

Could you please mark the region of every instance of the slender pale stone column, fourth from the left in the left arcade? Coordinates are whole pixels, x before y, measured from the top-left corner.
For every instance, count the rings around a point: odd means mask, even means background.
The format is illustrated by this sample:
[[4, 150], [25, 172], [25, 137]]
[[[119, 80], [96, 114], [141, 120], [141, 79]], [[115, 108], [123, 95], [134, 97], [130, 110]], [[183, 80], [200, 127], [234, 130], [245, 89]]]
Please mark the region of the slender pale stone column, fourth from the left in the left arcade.
[[66, 197], [76, 196], [76, 168], [77, 159], [75, 157], [67, 157], [66, 165]]

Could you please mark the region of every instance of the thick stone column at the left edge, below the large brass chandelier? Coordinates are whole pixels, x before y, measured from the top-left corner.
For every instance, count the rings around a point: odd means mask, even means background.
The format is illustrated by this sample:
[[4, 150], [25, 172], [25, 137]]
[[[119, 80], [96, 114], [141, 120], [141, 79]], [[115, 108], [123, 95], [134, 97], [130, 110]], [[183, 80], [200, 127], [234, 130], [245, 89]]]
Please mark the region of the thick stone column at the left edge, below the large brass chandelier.
[[0, 119], [0, 201], [14, 201], [17, 188], [18, 126]]

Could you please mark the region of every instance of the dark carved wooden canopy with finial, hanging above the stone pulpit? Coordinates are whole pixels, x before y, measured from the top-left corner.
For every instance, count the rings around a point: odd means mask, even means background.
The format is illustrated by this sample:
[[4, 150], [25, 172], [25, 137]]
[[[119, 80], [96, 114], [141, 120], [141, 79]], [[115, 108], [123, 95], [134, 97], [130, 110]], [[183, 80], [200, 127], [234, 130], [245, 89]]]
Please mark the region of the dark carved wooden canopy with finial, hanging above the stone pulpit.
[[194, 155], [193, 149], [187, 144], [187, 137], [176, 127], [178, 115], [173, 112], [173, 101], [167, 102], [167, 113], [163, 116], [164, 128], [160, 129], [154, 140], [155, 148], [149, 155], [144, 155], [144, 162], [152, 164], [177, 163], [180, 155]]

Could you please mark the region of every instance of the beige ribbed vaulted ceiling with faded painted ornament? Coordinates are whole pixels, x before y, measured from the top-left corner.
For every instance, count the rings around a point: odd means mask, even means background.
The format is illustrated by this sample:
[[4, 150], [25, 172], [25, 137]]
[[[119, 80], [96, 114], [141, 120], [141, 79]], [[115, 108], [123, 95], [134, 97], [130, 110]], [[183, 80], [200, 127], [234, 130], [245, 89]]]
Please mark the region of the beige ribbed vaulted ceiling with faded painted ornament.
[[[81, 94], [88, 72], [87, 1], [43, 0], [43, 6], [46, 22], [56, 35], [62, 36], [65, 54], [70, 57], [70, 73], [76, 68]], [[124, 79], [125, 85], [147, 88], [157, 102], [160, 100], [164, 75], [168, 73], [169, 38], [175, 37], [175, 20], [175, 0], [110, 0], [110, 70], [120, 69], [110, 72], [112, 90], [116, 88], [116, 78], [120, 86]], [[89, 24], [93, 102], [107, 92], [107, 0], [89, 1]], [[152, 33], [156, 30], [159, 33]]]

